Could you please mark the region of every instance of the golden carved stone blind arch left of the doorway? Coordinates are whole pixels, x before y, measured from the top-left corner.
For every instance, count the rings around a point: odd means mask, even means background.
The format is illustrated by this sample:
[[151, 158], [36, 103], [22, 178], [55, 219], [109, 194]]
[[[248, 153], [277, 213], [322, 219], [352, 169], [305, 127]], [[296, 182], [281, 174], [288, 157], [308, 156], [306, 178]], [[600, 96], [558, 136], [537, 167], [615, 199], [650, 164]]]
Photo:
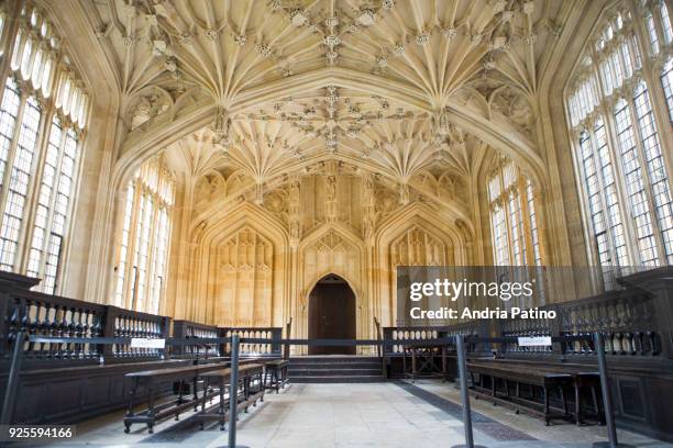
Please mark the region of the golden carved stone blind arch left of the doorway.
[[189, 246], [189, 269], [178, 275], [185, 298], [178, 296], [176, 305], [187, 304], [179, 315], [223, 326], [283, 326], [288, 236], [274, 216], [257, 205], [238, 204], [195, 228]]

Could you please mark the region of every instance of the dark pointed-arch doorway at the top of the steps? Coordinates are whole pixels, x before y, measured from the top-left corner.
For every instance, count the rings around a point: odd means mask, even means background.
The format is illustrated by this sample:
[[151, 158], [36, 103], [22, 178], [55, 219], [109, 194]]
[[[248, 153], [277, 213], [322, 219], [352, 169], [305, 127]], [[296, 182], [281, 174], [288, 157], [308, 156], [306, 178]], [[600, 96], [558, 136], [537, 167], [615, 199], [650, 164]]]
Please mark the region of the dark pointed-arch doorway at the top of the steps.
[[[330, 273], [309, 294], [310, 339], [355, 339], [355, 293], [341, 277]], [[355, 346], [309, 346], [309, 355], [355, 355]]]

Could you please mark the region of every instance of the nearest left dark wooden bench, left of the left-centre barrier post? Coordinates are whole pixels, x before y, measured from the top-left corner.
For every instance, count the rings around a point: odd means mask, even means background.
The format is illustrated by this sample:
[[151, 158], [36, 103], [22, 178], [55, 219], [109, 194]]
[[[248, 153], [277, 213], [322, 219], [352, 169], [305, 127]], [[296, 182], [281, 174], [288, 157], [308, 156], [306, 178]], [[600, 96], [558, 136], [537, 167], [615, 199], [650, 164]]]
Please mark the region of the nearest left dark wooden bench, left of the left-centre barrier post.
[[[169, 369], [154, 369], [154, 370], [142, 370], [139, 372], [126, 373], [125, 377], [133, 380], [133, 387], [129, 397], [129, 408], [124, 416], [124, 433], [131, 432], [131, 425], [134, 423], [144, 423], [147, 425], [150, 434], [154, 433], [154, 425], [157, 421], [161, 421], [168, 415], [175, 415], [175, 419], [179, 418], [179, 413], [188, 407], [194, 406], [194, 411], [198, 411], [198, 394], [197, 394], [197, 380], [199, 374], [221, 369], [224, 365], [222, 363], [207, 363], [197, 366], [185, 366], [175, 367]], [[157, 394], [157, 385], [165, 384], [168, 382], [178, 382], [177, 388], [177, 400], [170, 400], [159, 405], [155, 404]], [[191, 383], [194, 397], [185, 399], [184, 395], [184, 383]], [[141, 385], [144, 385], [147, 390], [147, 408], [140, 413], [133, 411], [134, 397]], [[207, 393], [207, 391], [205, 391]]]

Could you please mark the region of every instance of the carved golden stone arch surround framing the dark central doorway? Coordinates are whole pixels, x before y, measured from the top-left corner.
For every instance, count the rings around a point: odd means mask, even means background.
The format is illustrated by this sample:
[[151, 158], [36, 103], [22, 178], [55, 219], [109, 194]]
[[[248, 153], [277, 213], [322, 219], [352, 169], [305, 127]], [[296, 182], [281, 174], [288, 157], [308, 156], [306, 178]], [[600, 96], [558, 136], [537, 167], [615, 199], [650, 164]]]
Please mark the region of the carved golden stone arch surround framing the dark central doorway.
[[365, 246], [350, 227], [326, 223], [306, 235], [298, 247], [298, 291], [293, 298], [296, 336], [308, 337], [308, 298], [320, 279], [329, 273], [344, 279], [355, 293], [356, 334], [368, 337], [371, 301], [366, 294]]

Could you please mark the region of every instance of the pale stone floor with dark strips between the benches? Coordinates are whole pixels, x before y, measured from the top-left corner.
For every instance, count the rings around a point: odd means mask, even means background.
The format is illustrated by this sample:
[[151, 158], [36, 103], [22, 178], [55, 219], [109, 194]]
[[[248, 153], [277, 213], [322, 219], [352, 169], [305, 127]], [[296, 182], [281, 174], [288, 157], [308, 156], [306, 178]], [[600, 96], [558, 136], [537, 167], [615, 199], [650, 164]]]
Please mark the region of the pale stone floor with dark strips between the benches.
[[[457, 391], [435, 381], [372, 384], [293, 384], [242, 414], [238, 445], [257, 447], [452, 447], [463, 444]], [[475, 443], [487, 447], [592, 447], [606, 440], [605, 428], [543, 423], [500, 406], [473, 403]], [[147, 434], [140, 425], [123, 433], [123, 413], [77, 425], [77, 437], [54, 446], [90, 447], [223, 447], [229, 433], [217, 425], [199, 430], [185, 414]], [[633, 447], [673, 447], [619, 432]]]

